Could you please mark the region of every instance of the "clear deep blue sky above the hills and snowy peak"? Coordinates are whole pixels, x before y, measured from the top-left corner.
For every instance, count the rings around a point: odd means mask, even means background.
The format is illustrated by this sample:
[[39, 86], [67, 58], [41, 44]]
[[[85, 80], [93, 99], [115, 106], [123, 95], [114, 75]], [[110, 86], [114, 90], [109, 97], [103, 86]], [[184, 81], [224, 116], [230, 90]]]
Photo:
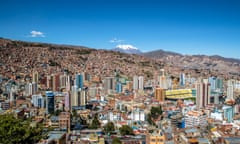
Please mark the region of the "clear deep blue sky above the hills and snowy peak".
[[4, 0], [0, 37], [240, 58], [238, 0]]

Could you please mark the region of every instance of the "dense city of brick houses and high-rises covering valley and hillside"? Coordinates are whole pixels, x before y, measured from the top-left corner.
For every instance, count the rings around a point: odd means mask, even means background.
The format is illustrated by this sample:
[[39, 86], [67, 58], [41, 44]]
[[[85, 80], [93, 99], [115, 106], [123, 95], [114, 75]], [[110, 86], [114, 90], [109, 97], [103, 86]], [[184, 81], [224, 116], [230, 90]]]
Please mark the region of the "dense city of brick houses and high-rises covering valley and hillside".
[[170, 69], [134, 54], [6, 39], [0, 51], [0, 143], [240, 141], [236, 73]]

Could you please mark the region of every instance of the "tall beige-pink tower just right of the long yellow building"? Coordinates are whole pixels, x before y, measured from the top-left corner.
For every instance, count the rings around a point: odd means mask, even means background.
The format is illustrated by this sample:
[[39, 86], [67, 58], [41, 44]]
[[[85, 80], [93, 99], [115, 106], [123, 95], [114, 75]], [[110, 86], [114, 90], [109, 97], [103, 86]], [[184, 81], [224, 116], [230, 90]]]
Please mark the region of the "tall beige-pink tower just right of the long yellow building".
[[197, 109], [203, 108], [210, 104], [210, 83], [208, 79], [204, 79], [202, 82], [196, 82], [196, 104]]

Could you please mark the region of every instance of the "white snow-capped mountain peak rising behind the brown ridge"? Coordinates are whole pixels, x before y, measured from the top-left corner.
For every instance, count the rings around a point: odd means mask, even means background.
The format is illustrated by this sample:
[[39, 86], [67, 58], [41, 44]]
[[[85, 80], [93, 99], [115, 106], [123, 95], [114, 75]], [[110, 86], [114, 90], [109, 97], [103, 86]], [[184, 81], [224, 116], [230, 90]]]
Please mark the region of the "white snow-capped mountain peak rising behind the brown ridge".
[[132, 45], [117, 45], [113, 51], [118, 51], [118, 52], [122, 52], [122, 53], [127, 53], [127, 54], [141, 54], [142, 52], [132, 46]]

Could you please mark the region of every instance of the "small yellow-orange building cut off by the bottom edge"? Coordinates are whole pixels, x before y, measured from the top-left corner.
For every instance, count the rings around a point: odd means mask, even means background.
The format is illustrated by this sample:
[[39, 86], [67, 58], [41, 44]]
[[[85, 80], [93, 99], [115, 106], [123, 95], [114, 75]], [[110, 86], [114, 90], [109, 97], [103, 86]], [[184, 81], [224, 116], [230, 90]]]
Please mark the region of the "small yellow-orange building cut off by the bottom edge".
[[148, 144], [164, 144], [165, 135], [161, 130], [155, 130], [153, 133], [149, 134]]

